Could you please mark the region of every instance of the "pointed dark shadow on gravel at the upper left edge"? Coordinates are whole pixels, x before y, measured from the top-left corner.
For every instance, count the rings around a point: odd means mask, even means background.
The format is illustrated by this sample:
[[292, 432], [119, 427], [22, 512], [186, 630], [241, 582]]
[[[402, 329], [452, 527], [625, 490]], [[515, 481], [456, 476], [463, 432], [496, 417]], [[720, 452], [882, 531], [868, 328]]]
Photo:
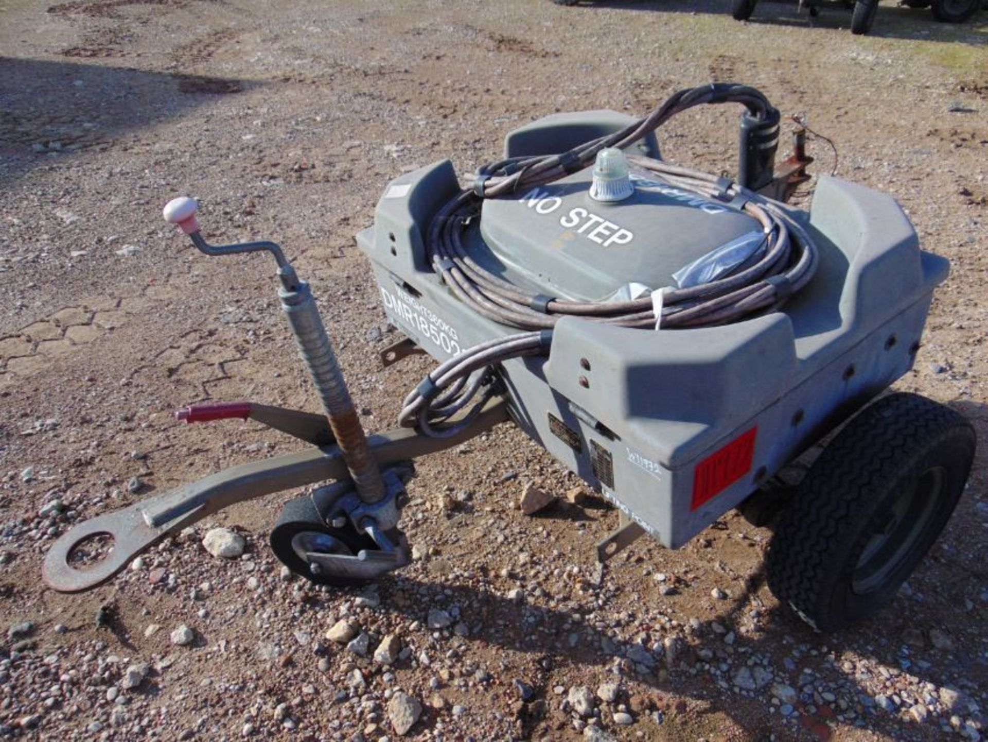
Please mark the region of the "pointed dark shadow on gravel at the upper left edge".
[[0, 56], [0, 185], [259, 83]]

